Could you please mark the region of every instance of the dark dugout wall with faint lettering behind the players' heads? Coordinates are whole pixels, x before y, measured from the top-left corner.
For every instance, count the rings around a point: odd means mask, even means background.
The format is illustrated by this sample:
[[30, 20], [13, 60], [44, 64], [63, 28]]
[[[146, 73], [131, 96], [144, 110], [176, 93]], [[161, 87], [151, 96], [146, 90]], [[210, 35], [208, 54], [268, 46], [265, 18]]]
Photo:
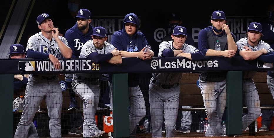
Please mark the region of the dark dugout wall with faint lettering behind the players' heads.
[[[25, 48], [28, 37], [40, 31], [36, 24], [36, 18], [41, 13], [48, 13], [54, 16], [54, 27], [58, 27], [63, 34], [66, 29], [71, 28], [76, 23], [76, 20], [68, 12], [67, 0], [36, 0], [32, 2], [35, 3], [33, 9], [30, 8], [31, 4], [29, 5], [29, 18], [27, 18], [27, 15], [22, 15], [28, 21], [25, 29], [20, 30], [23, 31], [23, 35], [17, 36], [17, 40], [19, 39], [20, 44]], [[269, 2], [271, 1], [181, 0], [141, 2], [81, 0], [80, 9], [84, 8], [91, 11], [94, 27], [103, 26], [107, 28], [109, 42], [111, 35], [121, 29], [124, 16], [133, 12], [141, 21], [140, 31], [144, 33], [148, 44], [151, 45], [155, 56], [157, 56], [158, 45], [163, 36], [169, 32], [168, 16], [170, 12], [175, 11], [181, 14], [183, 21], [181, 26], [186, 27], [188, 33], [192, 34], [196, 47], [198, 47], [198, 32], [200, 29], [211, 25], [210, 19], [213, 11], [221, 10], [225, 12], [230, 31], [237, 36], [238, 40], [243, 37], [250, 22], [261, 22], [267, 19], [266, 6]], [[4, 24], [12, 1], [5, 1], [5, 3], [1, 4], [0, 7], [2, 15], [1, 26]]]

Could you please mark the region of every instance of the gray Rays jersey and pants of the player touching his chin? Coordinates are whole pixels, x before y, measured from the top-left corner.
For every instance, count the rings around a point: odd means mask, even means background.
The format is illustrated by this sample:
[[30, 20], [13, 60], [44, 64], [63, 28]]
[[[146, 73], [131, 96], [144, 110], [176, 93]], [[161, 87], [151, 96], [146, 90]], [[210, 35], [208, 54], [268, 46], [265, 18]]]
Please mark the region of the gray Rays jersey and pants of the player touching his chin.
[[[64, 37], [59, 36], [59, 39], [69, 48], [68, 42]], [[41, 53], [50, 53], [56, 58], [62, 58], [61, 51], [54, 38], [49, 41], [41, 32], [29, 38], [26, 51], [29, 49]], [[31, 74], [29, 76], [29, 81], [26, 86], [24, 110], [14, 137], [27, 137], [31, 122], [43, 99], [46, 101], [50, 117], [50, 135], [51, 137], [61, 137], [63, 95], [58, 76], [53, 74]]]

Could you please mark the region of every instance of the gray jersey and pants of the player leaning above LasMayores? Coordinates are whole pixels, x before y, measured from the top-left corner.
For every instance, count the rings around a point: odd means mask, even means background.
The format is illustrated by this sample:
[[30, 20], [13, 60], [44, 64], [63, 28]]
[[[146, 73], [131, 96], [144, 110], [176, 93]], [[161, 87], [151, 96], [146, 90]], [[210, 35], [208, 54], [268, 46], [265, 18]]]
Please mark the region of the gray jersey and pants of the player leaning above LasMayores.
[[[185, 43], [181, 49], [175, 49], [173, 41], [164, 41], [159, 45], [158, 57], [162, 57], [164, 49], [183, 50], [184, 53], [198, 52], [195, 47]], [[166, 137], [175, 137], [180, 94], [178, 82], [181, 77], [182, 73], [176, 72], [152, 74], [149, 85], [152, 137], [163, 137], [163, 112], [166, 121]]]

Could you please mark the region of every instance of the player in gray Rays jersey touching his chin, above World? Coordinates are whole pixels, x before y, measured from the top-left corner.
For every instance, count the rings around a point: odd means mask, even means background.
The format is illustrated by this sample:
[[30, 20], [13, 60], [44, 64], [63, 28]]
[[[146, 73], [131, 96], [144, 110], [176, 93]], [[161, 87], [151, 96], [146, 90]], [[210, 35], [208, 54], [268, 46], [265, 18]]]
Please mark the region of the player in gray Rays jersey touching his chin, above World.
[[[41, 32], [31, 36], [26, 48], [26, 56], [36, 59], [50, 59], [54, 69], [59, 70], [57, 58], [71, 58], [71, 49], [64, 37], [54, 28], [53, 16], [40, 14], [36, 23]], [[51, 137], [61, 137], [62, 90], [58, 74], [31, 74], [26, 86], [25, 105], [14, 137], [27, 137], [31, 122], [42, 100], [46, 101], [49, 114]]]

